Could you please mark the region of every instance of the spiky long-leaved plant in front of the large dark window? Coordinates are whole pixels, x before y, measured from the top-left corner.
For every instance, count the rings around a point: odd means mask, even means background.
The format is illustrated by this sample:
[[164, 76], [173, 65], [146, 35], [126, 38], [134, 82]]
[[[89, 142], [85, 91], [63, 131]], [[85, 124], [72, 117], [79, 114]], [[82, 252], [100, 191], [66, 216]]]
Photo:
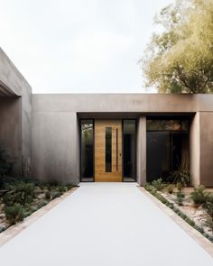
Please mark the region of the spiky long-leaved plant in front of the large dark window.
[[178, 166], [178, 170], [171, 172], [168, 179], [174, 184], [181, 183], [182, 187], [189, 186], [191, 182], [189, 162], [182, 159], [181, 164]]

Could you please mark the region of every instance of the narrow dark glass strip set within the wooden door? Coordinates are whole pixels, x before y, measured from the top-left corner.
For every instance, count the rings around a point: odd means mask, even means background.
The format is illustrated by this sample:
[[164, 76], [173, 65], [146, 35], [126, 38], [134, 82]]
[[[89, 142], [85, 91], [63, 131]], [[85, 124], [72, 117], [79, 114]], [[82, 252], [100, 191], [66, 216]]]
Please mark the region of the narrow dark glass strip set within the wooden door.
[[112, 171], [112, 127], [105, 131], [105, 171]]

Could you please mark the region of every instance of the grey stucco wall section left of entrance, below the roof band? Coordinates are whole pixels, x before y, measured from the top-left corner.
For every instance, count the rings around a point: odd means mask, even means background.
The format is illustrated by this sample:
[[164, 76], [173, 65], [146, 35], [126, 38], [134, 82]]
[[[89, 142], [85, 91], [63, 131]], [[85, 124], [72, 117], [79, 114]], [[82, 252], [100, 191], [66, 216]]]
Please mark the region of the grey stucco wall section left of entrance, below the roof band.
[[32, 177], [78, 184], [77, 115], [33, 112], [32, 122]]

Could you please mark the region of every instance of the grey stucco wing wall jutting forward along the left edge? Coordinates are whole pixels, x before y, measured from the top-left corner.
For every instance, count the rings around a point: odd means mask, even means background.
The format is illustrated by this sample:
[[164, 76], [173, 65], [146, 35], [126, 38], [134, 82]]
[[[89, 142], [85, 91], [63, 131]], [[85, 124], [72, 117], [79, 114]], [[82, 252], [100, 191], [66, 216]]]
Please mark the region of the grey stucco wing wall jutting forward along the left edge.
[[[0, 49], [0, 100], [0, 116], [2, 117], [0, 127], [4, 131], [0, 135], [0, 142], [4, 142], [5, 149], [9, 151], [14, 143], [19, 143], [19, 148], [14, 149], [14, 154], [12, 152], [12, 156], [18, 158], [16, 171], [24, 177], [30, 177], [32, 88], [2, 49]], [[14, 124], [17, 121], [18, 135], [14, 132]], [[7, 129], [7, 134], [5, 129]]]

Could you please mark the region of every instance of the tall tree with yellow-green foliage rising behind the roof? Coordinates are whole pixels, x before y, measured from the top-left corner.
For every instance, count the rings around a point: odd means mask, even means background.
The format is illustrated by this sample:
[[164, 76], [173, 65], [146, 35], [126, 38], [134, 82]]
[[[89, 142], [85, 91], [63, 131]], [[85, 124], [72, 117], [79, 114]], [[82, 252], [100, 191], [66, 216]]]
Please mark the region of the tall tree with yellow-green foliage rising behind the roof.
[[176, 0], [155, 16], [140, 60], [147, 87], [165, 93], [213, 92], [213, 0]]

